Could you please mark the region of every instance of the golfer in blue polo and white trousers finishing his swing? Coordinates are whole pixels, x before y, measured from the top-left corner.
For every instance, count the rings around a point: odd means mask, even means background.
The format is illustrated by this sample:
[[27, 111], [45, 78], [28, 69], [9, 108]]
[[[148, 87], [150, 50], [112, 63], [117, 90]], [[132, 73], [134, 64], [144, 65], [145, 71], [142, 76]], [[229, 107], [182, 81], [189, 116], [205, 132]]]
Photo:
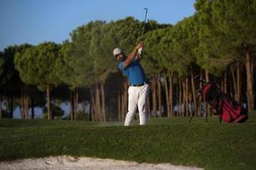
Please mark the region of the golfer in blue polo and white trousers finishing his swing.
[[139, 42], [136, 48], [127, 57], [120, 48], [113, 49], [113, 56], [119, 60], [119, 70], [128, 77], [128, 113], [125, 117], [125, 126], [129, 126], [136, 111], [139, 111], [140, 125], [147, 122], [146, 105], [149, 85], [142, 65], [143, 43]]

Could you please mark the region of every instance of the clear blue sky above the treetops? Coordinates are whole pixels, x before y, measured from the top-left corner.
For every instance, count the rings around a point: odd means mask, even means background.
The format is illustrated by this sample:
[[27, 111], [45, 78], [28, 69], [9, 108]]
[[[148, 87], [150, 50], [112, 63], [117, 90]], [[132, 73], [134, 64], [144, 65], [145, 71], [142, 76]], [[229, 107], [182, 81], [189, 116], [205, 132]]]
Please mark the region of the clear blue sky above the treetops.
[[70, 40], [70, 32], [93, 20], [133, 16], [176, 24], [195, 13], [195, 0], [0, 0], [0, 51], [10, 45]]

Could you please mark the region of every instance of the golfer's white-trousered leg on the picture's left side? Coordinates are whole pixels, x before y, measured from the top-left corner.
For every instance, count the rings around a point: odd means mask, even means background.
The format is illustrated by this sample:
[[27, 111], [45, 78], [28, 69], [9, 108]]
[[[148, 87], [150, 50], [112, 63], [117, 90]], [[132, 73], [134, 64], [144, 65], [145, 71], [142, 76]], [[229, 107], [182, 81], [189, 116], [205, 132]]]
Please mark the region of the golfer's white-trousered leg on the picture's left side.
[[129, 126], [135, 112], [137, 111], [137, 95], [136, 88], [130, 87], [128, 89], [128, 113], [125, 117], [125, 126]]

